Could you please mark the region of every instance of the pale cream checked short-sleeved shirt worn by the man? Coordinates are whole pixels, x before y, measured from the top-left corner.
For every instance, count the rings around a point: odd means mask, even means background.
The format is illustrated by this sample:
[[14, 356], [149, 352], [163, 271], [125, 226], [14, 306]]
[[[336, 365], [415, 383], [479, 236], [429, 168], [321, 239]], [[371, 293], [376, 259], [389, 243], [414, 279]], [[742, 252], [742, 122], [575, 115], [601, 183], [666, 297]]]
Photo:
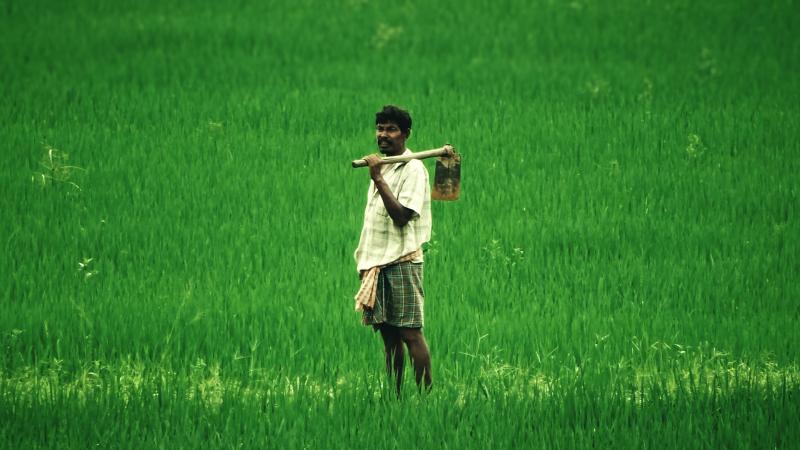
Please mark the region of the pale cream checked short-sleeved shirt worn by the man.
[[[409, 149], [403, 152], [403, 155], [410, 154]], [[422, 161], [412, 159], [383, 166], [383, 179], [397, 201], [414, 211], [414, 215], [405, 226], [395, 225], [375, 183], [370, 181], [364, 228], [354, 255], [359, 271], [388, 264], [422, 247], [431, 238], [431, 188], [428, 170]], [[412, 262], [422, 262], [421, 255]]]

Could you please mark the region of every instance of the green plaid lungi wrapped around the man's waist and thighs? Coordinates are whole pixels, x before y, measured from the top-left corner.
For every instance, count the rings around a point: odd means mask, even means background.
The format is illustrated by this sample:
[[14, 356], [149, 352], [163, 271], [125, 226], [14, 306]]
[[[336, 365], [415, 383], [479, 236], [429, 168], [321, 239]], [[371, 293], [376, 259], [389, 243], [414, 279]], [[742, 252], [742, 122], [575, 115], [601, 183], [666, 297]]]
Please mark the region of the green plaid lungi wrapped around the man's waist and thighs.
[[364, 309], [364, 325], [387, 323], [396, 327], [422, 328], [425, 303], [422, 265], [402, 262], [381, 269], [375, 306]]

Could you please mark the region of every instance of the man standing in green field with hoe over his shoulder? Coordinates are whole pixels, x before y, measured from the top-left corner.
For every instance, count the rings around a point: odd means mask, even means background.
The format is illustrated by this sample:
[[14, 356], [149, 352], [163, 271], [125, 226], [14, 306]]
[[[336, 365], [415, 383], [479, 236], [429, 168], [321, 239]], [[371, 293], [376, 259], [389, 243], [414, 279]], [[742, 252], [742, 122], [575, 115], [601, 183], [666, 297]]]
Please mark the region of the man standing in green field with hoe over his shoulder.
[[[396, 106], [375, 114], [378, 149], [385, 156], [412, 154], [406, 148], [411, 116]], [[361, 289], [356, 310], [365, 325], [380, 331], [386, 370], [397, 383], [403, 381], [408, 347], [417, 386], [431, 386], [431, 357], [422, 334], [422, 244], [430, 240], [431, 206], [428, 171], [420, 160], [380, 165], [377, 155], [364, 158], [371, 181], [356, 264]]]

